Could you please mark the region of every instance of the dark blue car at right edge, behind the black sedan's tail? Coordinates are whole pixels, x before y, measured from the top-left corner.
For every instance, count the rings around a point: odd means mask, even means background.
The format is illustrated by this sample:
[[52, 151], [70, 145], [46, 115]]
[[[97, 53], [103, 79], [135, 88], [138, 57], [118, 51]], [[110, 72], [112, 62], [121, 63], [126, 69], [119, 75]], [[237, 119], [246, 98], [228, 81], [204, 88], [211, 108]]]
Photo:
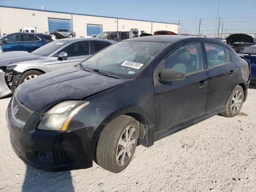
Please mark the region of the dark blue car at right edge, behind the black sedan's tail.
[[238, 54], [251, 63], [251, 82], [256, 83], [256, 45], [250, 46]]

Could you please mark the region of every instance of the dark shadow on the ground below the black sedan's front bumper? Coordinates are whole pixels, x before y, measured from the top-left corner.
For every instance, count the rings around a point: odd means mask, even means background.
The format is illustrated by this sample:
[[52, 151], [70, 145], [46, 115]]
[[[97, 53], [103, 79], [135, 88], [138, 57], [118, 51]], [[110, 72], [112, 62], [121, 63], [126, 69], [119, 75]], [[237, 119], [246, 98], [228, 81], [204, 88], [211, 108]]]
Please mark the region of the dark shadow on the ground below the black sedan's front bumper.
[[27, 166], [22, 192], [74, 192], [70, 171], [45, 172]]

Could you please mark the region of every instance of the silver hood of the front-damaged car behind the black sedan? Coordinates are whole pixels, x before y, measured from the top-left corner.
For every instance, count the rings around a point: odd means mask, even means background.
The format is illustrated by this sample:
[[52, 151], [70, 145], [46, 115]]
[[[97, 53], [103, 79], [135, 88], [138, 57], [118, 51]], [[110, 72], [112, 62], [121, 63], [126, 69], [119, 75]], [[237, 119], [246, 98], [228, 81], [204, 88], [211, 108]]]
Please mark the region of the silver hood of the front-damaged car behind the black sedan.
[[0, 54], [0, 67], [7, 66], [14, 62], [33, 60], [39, 57], [39, 55], [34, 55], [26, 51], [3, 52]]

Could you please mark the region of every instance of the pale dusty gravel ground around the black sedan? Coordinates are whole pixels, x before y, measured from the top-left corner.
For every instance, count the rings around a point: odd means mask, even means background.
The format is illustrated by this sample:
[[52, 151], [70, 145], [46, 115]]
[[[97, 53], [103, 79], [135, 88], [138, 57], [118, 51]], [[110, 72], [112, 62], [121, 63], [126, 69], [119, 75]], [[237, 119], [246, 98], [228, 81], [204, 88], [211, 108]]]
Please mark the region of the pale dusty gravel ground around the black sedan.
[[26, 166], [10, 146], [0, 100], [1, 192], [256, 191], [256, 85], [234, 118], [216, 115], [150, 148], [138, 146], [130, 165], [113, 174], [94, 164], [50, 173]]

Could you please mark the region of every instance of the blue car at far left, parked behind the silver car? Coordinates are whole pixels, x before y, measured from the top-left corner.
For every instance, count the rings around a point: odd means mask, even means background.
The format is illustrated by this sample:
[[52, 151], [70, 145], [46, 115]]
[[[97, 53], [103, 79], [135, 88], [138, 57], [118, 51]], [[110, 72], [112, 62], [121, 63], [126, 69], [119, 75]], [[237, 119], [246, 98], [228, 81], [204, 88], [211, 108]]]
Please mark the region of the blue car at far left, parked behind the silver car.
[[10, 33], [0, 37], [3, 52], [27, 51], [32, 52], [43, 45], [52, 42], [50, 35], [40, 33]]

